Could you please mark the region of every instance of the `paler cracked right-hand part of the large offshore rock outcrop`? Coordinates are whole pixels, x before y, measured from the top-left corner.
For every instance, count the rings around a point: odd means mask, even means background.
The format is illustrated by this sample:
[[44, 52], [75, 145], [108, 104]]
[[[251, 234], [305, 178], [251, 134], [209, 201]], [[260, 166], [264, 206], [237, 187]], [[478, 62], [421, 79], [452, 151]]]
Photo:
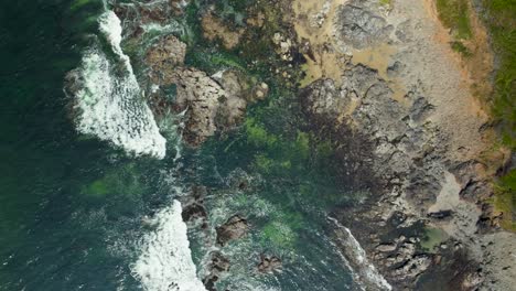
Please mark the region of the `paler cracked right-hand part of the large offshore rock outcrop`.
[[[240, 123], [249, 103], [265, 98], [268, 87], [251, 86], [236, 71], [219, 72], [209, 77], [194, 68], [175, 71], [176, 112], [186, 110], [183, 139], [197, 147], [215, 132]], [[259, 96], [256, 94], [260, 91]]]

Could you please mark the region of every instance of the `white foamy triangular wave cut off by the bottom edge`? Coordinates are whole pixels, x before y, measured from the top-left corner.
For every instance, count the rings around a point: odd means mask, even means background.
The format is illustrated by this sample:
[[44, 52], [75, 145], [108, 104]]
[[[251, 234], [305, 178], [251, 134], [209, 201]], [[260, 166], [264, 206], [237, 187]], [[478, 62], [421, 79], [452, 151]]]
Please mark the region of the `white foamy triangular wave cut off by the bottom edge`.
[[181, 204], [160, 211], [150, 222], [155, 229], [143, 237], [133, 276], [149, 291], [206, 291], [196, 277]]

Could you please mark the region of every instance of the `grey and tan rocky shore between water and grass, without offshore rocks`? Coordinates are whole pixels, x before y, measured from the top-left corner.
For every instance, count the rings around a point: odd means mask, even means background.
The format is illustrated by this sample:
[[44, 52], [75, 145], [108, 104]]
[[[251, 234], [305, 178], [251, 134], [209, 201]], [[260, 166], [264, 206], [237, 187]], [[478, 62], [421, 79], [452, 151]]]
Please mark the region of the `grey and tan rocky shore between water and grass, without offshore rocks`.
[[481, 157], [492, 128], [451, 50], [434, 39], [442, 28], [428, 2], [416, 2], [326, 1], [336, 12], [325, 41], [347, 57], [340, 78], [304, 88], [303, 108], [324, 120], [319, 128], [347, 128], [341, 143], [366, 140], [343, 160], [370, 161], [355, 169], [378, 180], [367, 203], [336, 214], [396, 289], [510, 290], [510, 259], [490, 258], [514, 257], [498, 244], [516, 242], [485, 203], [495, 171]]

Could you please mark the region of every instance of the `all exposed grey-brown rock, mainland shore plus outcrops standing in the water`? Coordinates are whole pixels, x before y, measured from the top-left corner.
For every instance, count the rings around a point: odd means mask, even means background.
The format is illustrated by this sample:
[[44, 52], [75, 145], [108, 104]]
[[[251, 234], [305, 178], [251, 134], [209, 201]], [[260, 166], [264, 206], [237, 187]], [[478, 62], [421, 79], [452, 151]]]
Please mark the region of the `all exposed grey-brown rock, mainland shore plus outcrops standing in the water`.
[[[496, 153], [498, 165], [482, 160], [492, 149], [493, 129], [431, 3], [277, 1], [282, 23], [268, 42], [286, 69], [273, 73], [292, 85], [294, 71], [303, 69], [298, 101], [308, 130], [331, 137], [341, 183], [368, 192], [364, 202], [336, 208], [332, 217], [351, 229], [395, 290], [510, 290], [516, 237], [497, 228], [486, 203], [492, 177], [509, 154]], [[185, 13], [179, 1], [157, 6], [116, 11], [126, 19], [138, 14], [140, 24]], [[261, 28], [267, 15], [251, 12], [247, 25]], [[206, 40], [225, 50], [249, 41], [245, 29], [227, 26], [209, 10], [205, 14]], [[133, 41], [142, 30], [129, 29]], [[161, 36], [147, 48], [143, 66], [154, 112], [184, 114], [182, 138], [196, 148], [240, 126], [247, 107], [265, 100], [269, 86], [239, 69], [208, 75], [185, 64], [186, 50], [172, 34]], [[175, 98], [166, 100], [171, 88]], [[202, 198], [194, 198], [184, 207], [186, 222], [206, 217]], [[221, 246], [247, 233], [246, 218], [232, 215], [216, 229]], [[211, 254], [206, 288], [215, 290], [229, 268], [230, 259]], [[280, 268], [273, 255], [262, 254], [257, 265], [264, 273]]]

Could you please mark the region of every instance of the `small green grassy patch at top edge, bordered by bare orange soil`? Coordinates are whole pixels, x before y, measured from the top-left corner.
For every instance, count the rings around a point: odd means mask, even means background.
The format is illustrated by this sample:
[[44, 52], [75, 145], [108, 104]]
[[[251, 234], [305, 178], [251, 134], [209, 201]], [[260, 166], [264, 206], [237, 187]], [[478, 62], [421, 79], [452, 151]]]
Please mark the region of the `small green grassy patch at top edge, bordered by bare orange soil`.
[[437, 0], [439, 18], [458, 39], [472, 36], [467, 0]]

